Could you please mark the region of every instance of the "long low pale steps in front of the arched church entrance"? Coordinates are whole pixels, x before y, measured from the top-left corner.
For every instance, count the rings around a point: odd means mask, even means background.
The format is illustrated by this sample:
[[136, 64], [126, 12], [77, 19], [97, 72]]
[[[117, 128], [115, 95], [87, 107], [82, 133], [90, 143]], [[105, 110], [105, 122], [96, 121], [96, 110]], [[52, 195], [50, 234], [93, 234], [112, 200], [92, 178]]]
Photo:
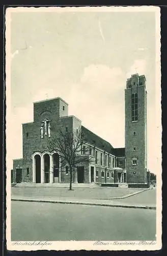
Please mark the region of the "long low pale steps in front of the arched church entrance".
[[[15, 187], [69, 187], [70, 183], [17, 183]], [[72, 187], [100, 187], [97, 183], [72, 183]]]

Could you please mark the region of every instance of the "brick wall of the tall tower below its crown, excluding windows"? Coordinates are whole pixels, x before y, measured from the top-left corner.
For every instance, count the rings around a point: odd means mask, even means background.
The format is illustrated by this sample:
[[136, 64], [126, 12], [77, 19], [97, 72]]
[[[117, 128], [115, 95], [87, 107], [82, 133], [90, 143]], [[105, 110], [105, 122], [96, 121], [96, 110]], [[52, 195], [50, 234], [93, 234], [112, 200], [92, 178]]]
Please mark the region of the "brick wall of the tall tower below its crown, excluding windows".
[[[131, 122], [131, 94], [136, 92], [138, 95], [138, 121]], [[145, 148], [147, 143], [145, 132], [145, 95], [145, 86], [138, 86], [137, 88], [133, 86], [132, 89], [125, 90], [125, 157], [127, 183], [145, 182]], [[132, 164], [133, 158], [137, 159], [137, 165]]]

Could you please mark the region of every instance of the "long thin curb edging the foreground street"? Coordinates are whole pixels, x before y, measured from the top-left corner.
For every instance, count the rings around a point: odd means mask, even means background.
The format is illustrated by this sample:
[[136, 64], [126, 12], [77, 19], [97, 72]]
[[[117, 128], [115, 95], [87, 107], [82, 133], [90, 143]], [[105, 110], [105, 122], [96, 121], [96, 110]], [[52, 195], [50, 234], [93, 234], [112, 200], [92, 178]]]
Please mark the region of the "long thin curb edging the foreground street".
[[140, 206], [140, 205], [116, 205], [116, 204], [105, 204], [105, 203], [85, 203], [85, 202], [70, 202], [70, 201], [53, 201], [53, 200], [38, 200], [38, 199], [11, 199], [12, 201], [20, 202], [38, 202], [38, 203], [59, 203], [59, 204], [79, 204], [79, 205], [93, 205], [93, 206], [108, 206], [108, 207], [122, 207], [122, 208], [133, 208], [133, 209], [152, 209], [156, 210], [155, 206]]

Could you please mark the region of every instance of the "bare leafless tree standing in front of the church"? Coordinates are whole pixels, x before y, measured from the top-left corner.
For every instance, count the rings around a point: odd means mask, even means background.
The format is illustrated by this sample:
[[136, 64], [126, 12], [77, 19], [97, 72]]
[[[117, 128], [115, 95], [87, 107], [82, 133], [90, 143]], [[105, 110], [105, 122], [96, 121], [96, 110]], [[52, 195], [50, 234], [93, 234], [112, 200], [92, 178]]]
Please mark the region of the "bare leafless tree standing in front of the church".
[[94, 159], [93, 156], [89, 156], [89, 158], [88, 156], [83, 156], [89, 152], [89, 148], [90, 146], [85, 144], [81, 129], [77, 133], [69, 132], [68, 129], [60, 129], [56, 135], [49, 139], [49, 150], [56, 151], [60, 155], [61, 168], [64, 166], [69, 167], [69, 190], [72, 190], [72, 181], [77, 164], [80, 162], [84, 163], [88, 159], [89, 161], [93, 161]]

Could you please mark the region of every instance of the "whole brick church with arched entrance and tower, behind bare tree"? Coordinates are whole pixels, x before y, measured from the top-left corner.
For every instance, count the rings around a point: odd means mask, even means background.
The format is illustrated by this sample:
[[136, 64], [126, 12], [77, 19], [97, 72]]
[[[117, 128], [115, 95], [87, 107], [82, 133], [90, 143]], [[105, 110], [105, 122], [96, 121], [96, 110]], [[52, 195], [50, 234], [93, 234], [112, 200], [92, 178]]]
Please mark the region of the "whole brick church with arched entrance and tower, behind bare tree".
[[85, 138], [73, 174], [76, 183], [147, 184], [147, 102], [145, 76], [134, 74], [125, 89], [125, 148], [109, 142], [68, 116], [68, 103], [60, 97], [34, 102], [34, 121], [22, 124], [23, 158], [13, 160], [12, 182], [63, 183], [70, 181], [68, 166], [58, 152], [48, 151], [48, 141], [60, 129]]

